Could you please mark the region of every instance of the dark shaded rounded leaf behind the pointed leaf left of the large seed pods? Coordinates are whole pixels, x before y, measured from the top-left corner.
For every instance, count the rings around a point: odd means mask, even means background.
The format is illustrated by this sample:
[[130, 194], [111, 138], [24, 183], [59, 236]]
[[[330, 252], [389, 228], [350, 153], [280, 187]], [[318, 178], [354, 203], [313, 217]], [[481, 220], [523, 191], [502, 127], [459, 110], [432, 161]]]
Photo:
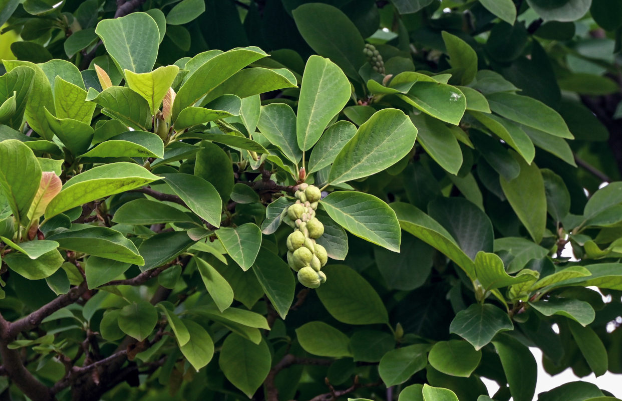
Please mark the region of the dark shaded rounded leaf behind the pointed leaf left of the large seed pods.
[[231, 158], [215, 143], [204, 142], [195, 158], [194, 175], [210, 182], [218, 191], [220, 199], [229, 199], [233, 190]]

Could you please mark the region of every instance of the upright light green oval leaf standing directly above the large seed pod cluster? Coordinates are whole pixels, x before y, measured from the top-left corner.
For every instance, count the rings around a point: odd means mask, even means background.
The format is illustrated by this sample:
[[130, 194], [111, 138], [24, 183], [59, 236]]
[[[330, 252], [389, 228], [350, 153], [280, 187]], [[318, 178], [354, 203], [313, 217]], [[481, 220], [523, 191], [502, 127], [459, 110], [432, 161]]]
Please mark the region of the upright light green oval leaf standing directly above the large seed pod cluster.
[[[302, 7], [305, 6], [299, 8]], [[300, 85], [296, 120], [300, 149], [307, 151], [317, 143], [328, 123], [348, 103], [350, 93], [350, 82], [337, 65], [318, 55], [309, 57]]]

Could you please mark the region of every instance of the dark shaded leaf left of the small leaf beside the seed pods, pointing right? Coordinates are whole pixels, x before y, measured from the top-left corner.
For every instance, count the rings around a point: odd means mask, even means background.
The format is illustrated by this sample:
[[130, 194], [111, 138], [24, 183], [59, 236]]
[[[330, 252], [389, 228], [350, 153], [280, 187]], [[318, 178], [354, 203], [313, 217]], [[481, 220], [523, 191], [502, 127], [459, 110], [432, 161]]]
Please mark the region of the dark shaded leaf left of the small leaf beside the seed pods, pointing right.
[[146, 271], [164, 265], [185, 252], [195, 242], [184, 231], [162, 232], [147, 238], [138, 247], [138, 251], [145, 259], [141, 270]]

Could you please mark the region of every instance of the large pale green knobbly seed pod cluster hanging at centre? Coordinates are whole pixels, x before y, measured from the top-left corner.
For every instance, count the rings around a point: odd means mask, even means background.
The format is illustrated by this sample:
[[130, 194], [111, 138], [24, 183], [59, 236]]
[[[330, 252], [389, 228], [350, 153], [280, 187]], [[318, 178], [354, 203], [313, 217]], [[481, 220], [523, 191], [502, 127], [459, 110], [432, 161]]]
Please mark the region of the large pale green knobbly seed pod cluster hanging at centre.
[[326, 249], [315, 242], [324, 234], [324, 225], [315, 217], [322, 192], [316, 186], [300, 184], [295, 197], [296, 203], [287, 208], [287, 217], [294, 227], [287, 237], [287, 263], [298, 272], [302, 285], [318, 288], [326, 281], [321, 269], [328, 262]]

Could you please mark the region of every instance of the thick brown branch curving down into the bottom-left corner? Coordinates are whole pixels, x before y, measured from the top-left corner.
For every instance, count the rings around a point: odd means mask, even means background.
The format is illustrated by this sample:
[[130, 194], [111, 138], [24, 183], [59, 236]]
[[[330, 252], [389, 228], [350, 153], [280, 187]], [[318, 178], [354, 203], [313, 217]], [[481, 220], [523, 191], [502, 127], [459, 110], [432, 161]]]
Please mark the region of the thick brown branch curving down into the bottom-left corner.
[[11, 323], [0, 314], [0, 356], [2, 356], [2, 364], [7, 376], [30, 399], [52, 401], [54, 399], [52, 393], [26, 369], [19, 351], [7, 347], [12, 341], [10, 328]]

